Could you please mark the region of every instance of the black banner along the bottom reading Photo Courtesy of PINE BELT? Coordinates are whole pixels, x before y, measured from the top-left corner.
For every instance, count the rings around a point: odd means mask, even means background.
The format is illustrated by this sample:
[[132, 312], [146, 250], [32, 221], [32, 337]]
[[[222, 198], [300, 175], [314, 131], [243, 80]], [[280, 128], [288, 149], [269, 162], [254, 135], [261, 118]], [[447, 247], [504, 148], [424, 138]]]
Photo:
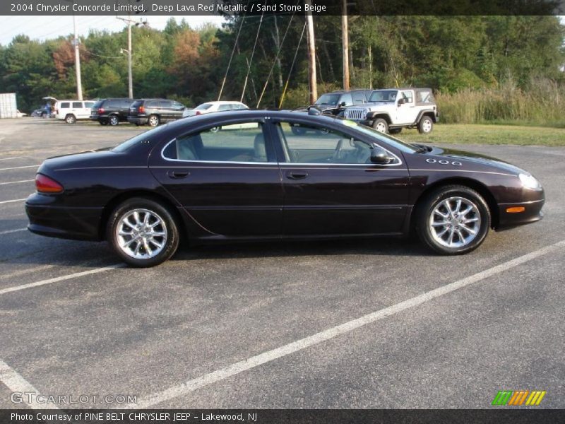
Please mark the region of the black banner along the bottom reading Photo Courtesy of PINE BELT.
[[233, 409], [233, 410], [1, 410], [2, 424], [542, 424], [564, 423], [565, 410], [548, 409]]

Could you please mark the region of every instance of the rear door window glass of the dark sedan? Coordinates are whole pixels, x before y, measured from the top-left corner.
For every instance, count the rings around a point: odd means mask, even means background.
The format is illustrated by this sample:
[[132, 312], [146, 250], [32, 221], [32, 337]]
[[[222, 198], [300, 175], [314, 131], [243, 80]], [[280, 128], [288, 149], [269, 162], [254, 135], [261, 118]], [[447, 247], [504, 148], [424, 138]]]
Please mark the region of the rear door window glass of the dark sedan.
[[268, 158], [263, 126], [258, 122], [213, 126], [178, 137], [167, 145], [163, 156], [205, 162], [274, 162]]

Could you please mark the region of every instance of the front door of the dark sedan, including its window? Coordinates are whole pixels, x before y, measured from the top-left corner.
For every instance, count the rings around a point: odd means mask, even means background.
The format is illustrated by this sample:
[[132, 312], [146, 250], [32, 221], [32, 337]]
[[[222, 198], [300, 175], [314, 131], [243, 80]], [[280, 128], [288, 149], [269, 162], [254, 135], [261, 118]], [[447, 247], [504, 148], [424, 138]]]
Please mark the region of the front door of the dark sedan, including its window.
[[285, 236], [402, 232], [408, 170], [400, 153], [393, 163], [376, 165], [370, 161], [371, 142], [346, 129], [274, 124], [283, 152]]

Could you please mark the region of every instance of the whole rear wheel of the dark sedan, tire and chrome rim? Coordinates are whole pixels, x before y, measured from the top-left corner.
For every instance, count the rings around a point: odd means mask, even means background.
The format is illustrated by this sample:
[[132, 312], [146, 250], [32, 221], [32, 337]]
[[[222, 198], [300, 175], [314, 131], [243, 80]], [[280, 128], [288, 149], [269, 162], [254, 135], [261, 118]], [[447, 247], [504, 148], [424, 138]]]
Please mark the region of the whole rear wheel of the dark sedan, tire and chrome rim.
[[179, 247], [179, 230], [165, 206], [150, 199], [132, 198], [112, 213], [107, 240], [127, 264], [145, 268], [172, 257]]

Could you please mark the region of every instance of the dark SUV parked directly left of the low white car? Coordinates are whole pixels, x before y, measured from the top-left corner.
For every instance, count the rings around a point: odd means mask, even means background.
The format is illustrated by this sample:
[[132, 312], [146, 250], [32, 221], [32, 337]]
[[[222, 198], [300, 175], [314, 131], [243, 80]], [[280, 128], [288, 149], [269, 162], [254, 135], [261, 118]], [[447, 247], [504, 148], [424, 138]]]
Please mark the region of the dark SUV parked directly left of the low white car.
[[131, 103], [128, 122], [136, 125], [157, 126], [161, 122], [182, 118], [186, 109], [182, 103], [167, 99], [139, 99]]

